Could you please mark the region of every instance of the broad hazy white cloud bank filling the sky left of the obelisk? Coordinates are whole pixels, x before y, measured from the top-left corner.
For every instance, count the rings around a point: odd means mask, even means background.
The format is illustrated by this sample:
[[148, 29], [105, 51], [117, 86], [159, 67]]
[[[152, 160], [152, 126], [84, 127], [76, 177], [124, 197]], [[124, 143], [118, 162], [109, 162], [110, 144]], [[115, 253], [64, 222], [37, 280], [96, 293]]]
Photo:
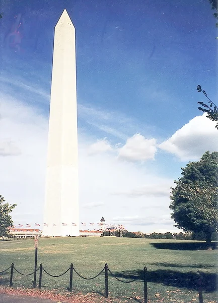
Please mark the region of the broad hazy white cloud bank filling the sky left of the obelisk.
[[21, 151], [16, 157], [0, 157], [4, 172], [0, 175], [0, 193], [7, 202], [17, 204], [15, 218], [23, 221], [35, 216], [37, 220], [44, 202], [47, 119], [36, 109], [3, 96], [0, 123], [0, 142], [13, 142], [13, 147]]

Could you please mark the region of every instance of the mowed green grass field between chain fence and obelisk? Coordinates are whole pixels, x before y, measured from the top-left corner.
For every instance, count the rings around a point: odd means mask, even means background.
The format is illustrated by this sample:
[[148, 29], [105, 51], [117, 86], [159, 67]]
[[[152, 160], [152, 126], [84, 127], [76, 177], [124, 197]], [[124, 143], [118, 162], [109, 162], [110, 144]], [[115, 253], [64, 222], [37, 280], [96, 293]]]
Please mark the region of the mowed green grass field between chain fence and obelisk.
[[[216, 243], [213, 243], [216, 245]], [[120, 301], [141, 301], [143, 297], [143, 268], [148, 268], [148, 298], [151, 302], [191, 302], [198, 300], [197, 271], [203, 275], [204, 302], [217, 301], [216, 249], [203, 249], [204, 242], [135, 239], [111, 237], [63, 237], [39, 239], [38, 266], [43, 264], [52, 275], [67, 270], [70, 263], [84, 277], [97, 275], [105, 263], [110, 271], [123, 281], [109, 274], [109, 296]], [[34, 239], [0, 242], [0, 271], [14, 263], [21, 273], [34, 271]], [[38, 267], [37, 266], [37, 267]], [[2, 285], [9, 285], [10, 271], [1, 274]], [[39, 271], [37, 272], [38, 286]], [[32, 276], [14, 272], [14, 287], [31, 288]], [[69, 271], [58, 278], [42, 275], [42, 289], [59, 289], [67, 292]], [[73, 274], [73, 292], [97, 292], [104, 295], [104, 272], [94, 280], [84, 280]]]

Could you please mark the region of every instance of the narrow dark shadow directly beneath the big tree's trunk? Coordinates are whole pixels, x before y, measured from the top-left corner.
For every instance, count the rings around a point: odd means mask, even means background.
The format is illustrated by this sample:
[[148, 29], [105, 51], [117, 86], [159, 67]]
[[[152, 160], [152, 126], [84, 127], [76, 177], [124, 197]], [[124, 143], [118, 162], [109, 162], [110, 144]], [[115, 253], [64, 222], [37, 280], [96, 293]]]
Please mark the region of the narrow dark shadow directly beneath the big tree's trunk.
[[[153, 242], [150, 243], [155, 248], [159, 249], [173, 249], [173, 250], [206, 250], [210, 249], [218, 249], [218, 242], [212, 242], [207, 244], [206, 242]], [[209, 245], [209, 246], [208, 246]]]

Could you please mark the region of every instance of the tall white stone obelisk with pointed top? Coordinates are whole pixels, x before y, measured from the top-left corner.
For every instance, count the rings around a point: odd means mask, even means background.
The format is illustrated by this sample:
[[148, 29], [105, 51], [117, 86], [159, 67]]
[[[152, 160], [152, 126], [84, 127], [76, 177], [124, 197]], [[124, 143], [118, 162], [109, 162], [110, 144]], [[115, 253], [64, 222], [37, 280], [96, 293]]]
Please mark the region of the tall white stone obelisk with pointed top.
[[54, 30], [43, 234], [79, 236], [76, 44], [66, 10]]

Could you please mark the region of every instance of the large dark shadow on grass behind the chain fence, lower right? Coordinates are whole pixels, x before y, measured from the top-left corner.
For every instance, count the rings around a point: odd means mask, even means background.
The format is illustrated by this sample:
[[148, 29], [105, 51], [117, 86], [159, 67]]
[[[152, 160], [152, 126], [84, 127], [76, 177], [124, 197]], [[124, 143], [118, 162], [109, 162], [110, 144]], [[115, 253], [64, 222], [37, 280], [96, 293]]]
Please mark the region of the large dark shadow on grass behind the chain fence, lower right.
[[[115, 276], [123, 279], [136, 279], [143, 281], [143, 271], [116, 272]], [[212, 292], [217, 289], [217, 275], [214, 273], [201, 273], [202, 290]], [[160, 283], [166, 286], [186, 288], [198, 291], [198, 274], [196, 272], [182, 273], [173, 270], [157, 270], [147, 272], [147, 281]]]

